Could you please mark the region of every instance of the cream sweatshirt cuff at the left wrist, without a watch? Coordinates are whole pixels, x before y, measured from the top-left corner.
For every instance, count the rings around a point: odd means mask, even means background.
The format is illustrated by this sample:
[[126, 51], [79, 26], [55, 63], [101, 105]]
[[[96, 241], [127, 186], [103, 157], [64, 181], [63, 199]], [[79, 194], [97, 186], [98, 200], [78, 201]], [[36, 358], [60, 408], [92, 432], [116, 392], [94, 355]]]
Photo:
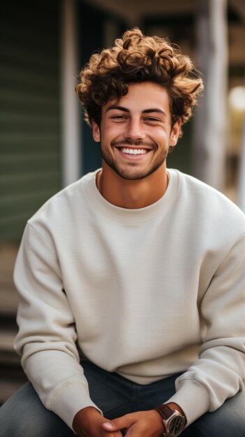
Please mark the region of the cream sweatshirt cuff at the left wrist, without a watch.
[[87, 390], [84, 390], [84, 385], [81, 383], [67, 383], [54, 394], [50, 401], [50, 410], [57, 414], [72, 430], [75, 415], [86, 407], [94, 407], [103, 414], [100, 408], [91, 401]]

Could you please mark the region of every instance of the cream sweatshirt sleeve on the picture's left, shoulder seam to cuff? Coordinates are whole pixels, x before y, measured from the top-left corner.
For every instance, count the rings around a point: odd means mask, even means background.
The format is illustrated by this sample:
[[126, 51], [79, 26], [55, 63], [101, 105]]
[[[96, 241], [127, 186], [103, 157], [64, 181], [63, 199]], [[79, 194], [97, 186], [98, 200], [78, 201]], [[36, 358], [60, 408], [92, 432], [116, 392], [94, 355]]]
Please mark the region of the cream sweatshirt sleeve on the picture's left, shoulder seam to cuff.
[[15, 349], [48, 410], [72, 429], [77, 411], [94, 406], [75, 341], [75, 321], [51, 239], [27, 224], [14, 272], [20, 304]]

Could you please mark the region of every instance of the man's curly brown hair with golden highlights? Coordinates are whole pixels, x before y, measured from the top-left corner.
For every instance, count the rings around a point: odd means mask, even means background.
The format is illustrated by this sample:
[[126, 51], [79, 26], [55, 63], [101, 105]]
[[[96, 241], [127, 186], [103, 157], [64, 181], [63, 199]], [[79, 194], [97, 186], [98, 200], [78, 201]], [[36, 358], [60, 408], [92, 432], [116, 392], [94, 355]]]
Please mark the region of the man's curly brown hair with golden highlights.
[[155, 82], [168, 91], [172, 126], [191, 117], [197, 96], [203, 89], [193, 61], [181, 54], [167, 38], [144, 36], [137, 27], [115, 40], [112, 48], [95, 53], [80, 72], [75, 87], [84, 118], [101, 124], [101, 107], [111, 98], [128, 93], [128, 84]]

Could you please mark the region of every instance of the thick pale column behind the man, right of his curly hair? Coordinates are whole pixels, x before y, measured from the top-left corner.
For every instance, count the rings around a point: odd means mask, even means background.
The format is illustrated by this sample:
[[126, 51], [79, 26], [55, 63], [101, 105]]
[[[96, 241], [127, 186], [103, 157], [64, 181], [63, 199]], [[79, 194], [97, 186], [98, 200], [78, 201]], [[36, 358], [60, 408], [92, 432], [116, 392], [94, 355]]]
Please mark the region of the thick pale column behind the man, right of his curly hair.
[[206, 7], [204, 20], [207, 21], [203, 24], [202, 17], [202, 22], [199, 23], [202, 24], [199, 32], [201, 29], [202, 32], [199, 33], [198, 64], [201, 71], [204, 66], [205, 99], [200, 101], [200, 110], [196, 114], [196, 175], [207, 184], [223, 191], [227, 150], [227, 0], [199, 0], [199, 2], [204, 5], [204, 8]]

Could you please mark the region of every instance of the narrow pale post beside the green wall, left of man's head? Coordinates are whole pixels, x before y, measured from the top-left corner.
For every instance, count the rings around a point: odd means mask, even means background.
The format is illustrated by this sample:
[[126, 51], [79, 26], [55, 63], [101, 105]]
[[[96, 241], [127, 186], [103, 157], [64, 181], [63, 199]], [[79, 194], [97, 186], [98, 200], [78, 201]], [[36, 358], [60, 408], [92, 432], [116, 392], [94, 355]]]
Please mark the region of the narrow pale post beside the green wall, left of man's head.
[[61, 27], [62, 166], [63, 185], [81, 175], [80, 105], [75, 94], [79, 73], [75, 0], [63, 0]]

